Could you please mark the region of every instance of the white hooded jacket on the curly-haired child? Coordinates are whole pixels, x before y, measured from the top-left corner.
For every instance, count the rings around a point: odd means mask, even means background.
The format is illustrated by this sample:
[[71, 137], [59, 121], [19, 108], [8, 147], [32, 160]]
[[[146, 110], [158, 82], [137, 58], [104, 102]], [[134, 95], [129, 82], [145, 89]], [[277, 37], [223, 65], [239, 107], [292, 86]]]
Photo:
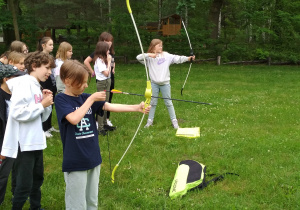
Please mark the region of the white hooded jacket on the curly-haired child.
[[47, 147], [42, 122], [51, 113], [51, 106], [44, 108], [41, 86], [30, 75], [7, 81], [12, 92], [1, 155], [16, 158], [18, 145], [21, 151], [43, 150]]

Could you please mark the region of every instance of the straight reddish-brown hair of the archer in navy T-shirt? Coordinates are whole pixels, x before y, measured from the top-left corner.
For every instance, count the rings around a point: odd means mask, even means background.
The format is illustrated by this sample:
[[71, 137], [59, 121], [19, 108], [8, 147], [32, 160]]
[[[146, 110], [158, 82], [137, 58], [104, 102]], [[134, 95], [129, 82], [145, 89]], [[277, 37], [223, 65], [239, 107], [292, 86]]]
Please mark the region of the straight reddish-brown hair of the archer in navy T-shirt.
[[66, 79], [71, 80], [71, 85], [80, 87], [83, 84], [85, 75], [91, 78], [89, 69], [77, 60], [66, 60], [60, 68], [60, 79], [65, 83]]

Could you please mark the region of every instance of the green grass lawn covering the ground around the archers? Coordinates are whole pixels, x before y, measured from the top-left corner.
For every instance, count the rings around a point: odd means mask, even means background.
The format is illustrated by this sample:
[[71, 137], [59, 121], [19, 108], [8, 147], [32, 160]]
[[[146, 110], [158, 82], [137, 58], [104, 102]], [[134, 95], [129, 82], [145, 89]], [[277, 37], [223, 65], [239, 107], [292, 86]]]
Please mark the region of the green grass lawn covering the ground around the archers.
[[[160, 100], [154, 125], [141, 128], [111, 182], [119, 161], [140, 122], [140, 113], [112, 113], [117, 130], [99, 136], [103, 163], [99, 186], [101, 209], [299, 209], [300, 208], [300, 69], [297, 66], [171, 67], [172, 97], [213, 105], [173, 102], [180, 127], [200, 127], [200, 137], [179, 138]], [[143, 94], [144, 67], [117, 65], [115, 88]], [[86, 92], [96, 91], [95, 79]], [[115, 94], [114, 103], [137, 104], [143, 97]], [[53, 122], [57, 128], [56, 116]], [[146, 119], [142, 126], [146, 123]], [[42, 205], [64, 209], [59, 134], [47, 140]], [[204, 190], [181, 199], [168, 196], [177, 165], [192, 159], [207, 173], [228, 175]], [[209, 177], [208, 177], [209, 179]], [[10, 186], [8, 190], [10, 191]], [[11, 208], [7, 193], [3, 209]], [[26, 204], [26, 206], [29, 206]]]

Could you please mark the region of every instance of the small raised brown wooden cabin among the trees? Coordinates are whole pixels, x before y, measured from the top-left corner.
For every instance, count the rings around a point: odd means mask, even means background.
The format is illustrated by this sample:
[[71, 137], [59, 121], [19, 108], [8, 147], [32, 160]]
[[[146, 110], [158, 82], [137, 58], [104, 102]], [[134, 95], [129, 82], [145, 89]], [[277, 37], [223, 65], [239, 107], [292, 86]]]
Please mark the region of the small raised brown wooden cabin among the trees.
[[158, 22], [148, 22], [146, 26], [141, 28], [146, 29], [149, 32], [158, 32], [163, 36], [172, 36], [180, 34], [181, 27], [181, 17], [177, 14], [173, 14], [161, 19], [159, 29]]

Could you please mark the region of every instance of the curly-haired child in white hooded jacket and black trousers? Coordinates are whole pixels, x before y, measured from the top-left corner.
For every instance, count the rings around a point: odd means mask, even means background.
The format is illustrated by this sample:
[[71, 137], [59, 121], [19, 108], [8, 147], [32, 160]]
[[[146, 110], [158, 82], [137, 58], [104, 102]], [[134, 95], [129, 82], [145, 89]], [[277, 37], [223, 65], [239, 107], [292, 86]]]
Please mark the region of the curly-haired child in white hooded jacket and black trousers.
[[41, 90], [40, 82], [48, 79], [55, 63], [51, 55], [34, 52], [26, 57], [25, 67], [29, 75], [7, 81], [12, 96], [1, 156], [17, 158], [12, 209], [22, 209], [28, 197], [30, 209], [40, 209], [47, 147], [42, 121], [49, 117], [53, 104], [52, 92]]

